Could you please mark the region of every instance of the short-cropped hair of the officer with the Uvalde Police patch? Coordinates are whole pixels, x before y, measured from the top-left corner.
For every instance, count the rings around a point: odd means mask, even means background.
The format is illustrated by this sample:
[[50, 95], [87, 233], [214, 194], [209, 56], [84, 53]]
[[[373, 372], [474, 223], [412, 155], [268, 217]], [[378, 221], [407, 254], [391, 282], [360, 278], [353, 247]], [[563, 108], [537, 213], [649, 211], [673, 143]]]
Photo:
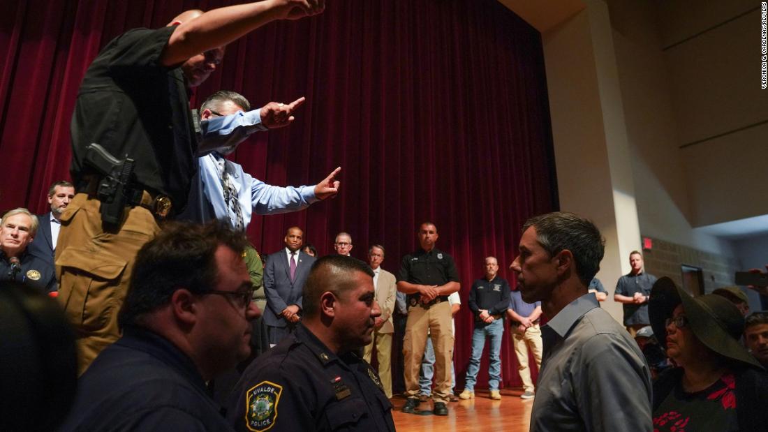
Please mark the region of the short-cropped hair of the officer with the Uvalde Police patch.
[[319, 315], [320, 295], [323, 295], [323, 292], [333, 292], [336, 297], [339, 297], [349, 289], [353, 289], [354, 286], [349, 283], [349, 276], [354, 272], [363, 272], [373, 277], [373, 270], [365, 262], [351, 256], [329, 255], [318, 259], [312, 265], [310, 275], [304, 283], [303, 315], [305, 317]]

